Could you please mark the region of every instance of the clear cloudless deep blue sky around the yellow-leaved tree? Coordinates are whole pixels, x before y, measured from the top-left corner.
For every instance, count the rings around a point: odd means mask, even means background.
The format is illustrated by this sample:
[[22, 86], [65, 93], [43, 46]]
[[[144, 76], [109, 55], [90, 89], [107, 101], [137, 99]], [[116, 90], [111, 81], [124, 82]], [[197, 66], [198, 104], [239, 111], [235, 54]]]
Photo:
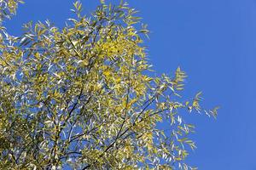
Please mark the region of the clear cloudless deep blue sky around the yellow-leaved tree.
[[[109, 0], [106, 0], [109, 2]], [[25, 0], [7, 21], [19, 35], [29, 20], [64, 26], [68, 0]], [[96, 0], [81, 0], [90, 12]], [[152, 31], [146, 42], [154, 70], [189, 77], [185, 96], [203, 91], [206, 107], [219, 105], [218, 119], [191, 116], [198, 149], [189, 163], [202, 170], [256, 169], [256, 0], [130, 0]]]

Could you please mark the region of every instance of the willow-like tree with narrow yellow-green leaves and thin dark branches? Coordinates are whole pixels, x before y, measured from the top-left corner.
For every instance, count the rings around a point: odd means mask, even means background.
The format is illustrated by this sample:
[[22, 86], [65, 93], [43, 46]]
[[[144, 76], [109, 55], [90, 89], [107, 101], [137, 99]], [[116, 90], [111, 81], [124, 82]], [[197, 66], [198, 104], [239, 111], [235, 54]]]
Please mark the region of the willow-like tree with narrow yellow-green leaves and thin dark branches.
[[[18, 0], [1, 1], [1, 19]], [[185, 73], [150, 76], [146, 26], [127, 3], [100, 3], [60, 29], [48, 20], [0, 34], [1, 169], [193, 169], [185, 163], [201, 93], [183, 99]], [[2, 23], [2, 21], [1, 21]], [[165, 129], [161, 128], [164, 124]]]

